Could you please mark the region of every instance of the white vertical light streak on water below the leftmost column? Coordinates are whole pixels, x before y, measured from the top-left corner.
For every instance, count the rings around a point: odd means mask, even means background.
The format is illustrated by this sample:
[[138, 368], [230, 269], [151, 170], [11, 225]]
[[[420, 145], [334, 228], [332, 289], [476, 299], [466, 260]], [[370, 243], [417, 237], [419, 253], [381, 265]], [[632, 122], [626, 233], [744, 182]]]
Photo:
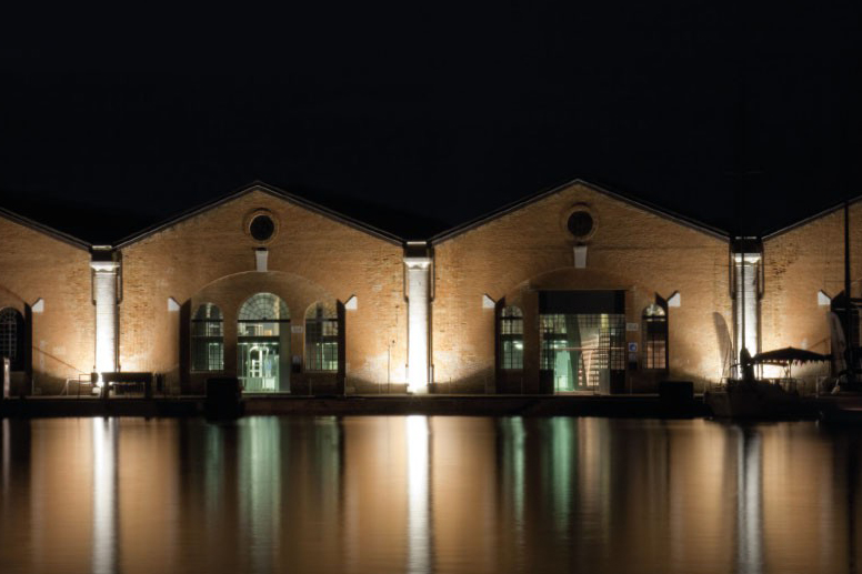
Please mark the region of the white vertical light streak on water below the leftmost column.
[[93, 556], [96, 574], [117, 571], [117, 457], [113, 419], [93, 419]]

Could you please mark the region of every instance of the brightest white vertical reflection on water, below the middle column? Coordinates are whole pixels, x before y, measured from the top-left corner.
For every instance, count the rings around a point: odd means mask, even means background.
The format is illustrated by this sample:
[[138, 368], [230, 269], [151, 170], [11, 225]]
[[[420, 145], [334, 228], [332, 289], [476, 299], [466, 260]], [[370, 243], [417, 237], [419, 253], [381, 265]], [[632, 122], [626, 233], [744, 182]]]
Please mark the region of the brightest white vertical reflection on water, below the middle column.
[[429, 572], [431, 563], [429, 508], [428, 417], [407, 417], [408, 572]]

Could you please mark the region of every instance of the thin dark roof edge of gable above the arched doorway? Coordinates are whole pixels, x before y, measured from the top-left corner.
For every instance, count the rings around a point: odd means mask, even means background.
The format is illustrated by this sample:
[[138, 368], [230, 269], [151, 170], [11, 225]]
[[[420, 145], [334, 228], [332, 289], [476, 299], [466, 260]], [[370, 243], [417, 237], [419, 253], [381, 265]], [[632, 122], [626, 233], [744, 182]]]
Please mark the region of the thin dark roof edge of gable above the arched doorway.
[[126, 248], [132, 243], [137, 243], [138, 241], [141, 241], [154, 233], [158, 233], [164, 229], [168, 229], [170, 226], [173, 226], [178, 223], [181, 223], [188, 219], [191, 219], [196, 215], [199, 215], [206, 211], [209, 211], [211, 209], [214, 209], [219, 205], [222, 205], [224, 203], [228, 203], [230, 201], [235, 200], [237, 198], [240, 198], [242, 195], [245, 195], [247, 193], [252, 193], [254, 191], [260, 191], [262, 193], [267, 193], [269, 195], [272, 195], [274, 198], [282, 199], [284, 201], [288, 201], [290, 203], [293, 203], [294, 205], [299, 205], [303, 209], [307, 209], [309, 211], [313, 211], [314, 213], [319, 213], [325, 218], [329, 218], [338, 223], [348, 225], [350, 228], [353, 228], [355, 230], [362, 231], [364, 233], [368, 233], [369, 235], [373, 235], [378, 239], [382, 239], [383, 241], [388, 241], [390, 243], [395, 243], [398, 245], [401, 245], [404, 240], [389, 233], [387, 231], [380, 230], [378, 228], [374, 228], [372, 225], [369, 225], [367, 223], [363, 223], [359, 220], [355, 220], [353, 218], [349, 218], [348, 215], [343, 215], [341, 213], [338, 213], [329, 208], [324, 208], [323, 205], [320, 205], [318, 203], [314, 203], [312, 201], [309, 201], [304, 198], [300, 198], [299, 195], [294, 195], [293, 193], [287, 192], [284, 190], [280, 190], [275, 187], [269, 185], [267, 183], [263, 183], [261, 181], [252, 182], [248, 185], [243, 185], [242, 188], [231, 191], [230, 193], [227, 193], [225, 195], [222, 195], [220, 198], [216, 198], [214, 200], [208, 201], [207, 203], [203, 203], [201, 205], [198, 205], [196, 208], [192, 208], [190, 210], [187, 210], [179, 215], [174, 215], [173, 218], [163, 221], [161, 223], [157, 223], [156, 225], [149, 226], [144, 229], [143, 231], [139, 231], [138, 233], [134, 233], [132, 235], [129, 235], [122, 240], [120, 240], [114, 248], [116, 249], [122, 249]]

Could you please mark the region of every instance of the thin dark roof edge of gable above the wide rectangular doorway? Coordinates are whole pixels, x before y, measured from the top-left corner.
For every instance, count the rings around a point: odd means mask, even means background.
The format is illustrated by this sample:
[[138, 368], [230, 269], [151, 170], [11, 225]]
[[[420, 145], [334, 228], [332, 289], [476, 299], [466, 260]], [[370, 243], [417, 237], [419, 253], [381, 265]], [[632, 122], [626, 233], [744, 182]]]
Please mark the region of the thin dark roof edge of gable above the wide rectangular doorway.
[[730, 239], [730, 234], [721, 229], [713, 228], [711, 225], [706, 225], [705, 223], [700, 223], [698, 221], [694, 221], [693, 219], [686, 218], [684, 215], [680, 215], [678, 213], [674, 213], [672, 211], [665, 210], [663, 208], [659, 208], [658, 205], [653, 205], [651, 203], [648, 203], [642, 200], [638, 200], [634, 198], [631, 198], [629, 195], [624, 195], [622, 193], [610, 191], [604, 188], [601, 188], [599, 185], [595, 185], [594, 183], [590, 183], [588, 181], [581, 180], [581, 179], [574, 179], [567, 183], [563, 183], [562, 185], [558, 185], [555, 188], [552, 188], [550, 190], [540, 191], [539, 193], [535, 193], [533, 195], [530, 195], [528, 198], [524, 198], [522, 200], [515, 201], [514, 203], [510, 203], [509, 205], [504, 205], [498, 210], [494, 210], [487, 215], [482, 215], [480, 218], [477, 218], [472, 221], [468, 221], [467, 223], [463, 223], [461, 225], [458, 225], [455, 228], [452, 228], [448, 231], [444, 231], [442, 233], [438, 233], [433, 238], [431, 238], [432, 244], [442, 243], [443, 241], [448, 241], [450, 239], [453, 239], [462, 233], [465, 233], [472, 229], [479, 228], [481, 225], [484, 225], [485, 223], [489, 223], [498, 218], [502, 218], [503, 215], [507, 215], [509, 213], [512, 213], [514, 211], [518, 211], [520, 209], [523, 209], [528, 205], [531, 205], [533, 203], [537, 203], [539, 201], [542, 201], [545, 198], [549, 198], [555, 193], [560, 193], [561, 191], [564, 191], [572, 185], [583, 185], [584, 188], [589, 188], [593, 191], [597, 191], [599, 193], [602, 193], [604, 195], [608, 195], [610, 198], [613, 198], [615, 200], [622, 201], [624, 203], [629, 203], [630, 205], [634, 205], [635, 208], [642, 209], [644, 211], [649, 211], [651, 213], [654, 213], [661, 218], [664, 218], [666, 220], [673, 221], [674, 223], [679, 223], [681, 225], [685, 225], [688, 228], [691, 228], [695, 231], [700, 231], [702, 233], [705, 233], [708, 235], [711, 235], [713, 238], [718, 238], [721, 240], [728, 240]]

